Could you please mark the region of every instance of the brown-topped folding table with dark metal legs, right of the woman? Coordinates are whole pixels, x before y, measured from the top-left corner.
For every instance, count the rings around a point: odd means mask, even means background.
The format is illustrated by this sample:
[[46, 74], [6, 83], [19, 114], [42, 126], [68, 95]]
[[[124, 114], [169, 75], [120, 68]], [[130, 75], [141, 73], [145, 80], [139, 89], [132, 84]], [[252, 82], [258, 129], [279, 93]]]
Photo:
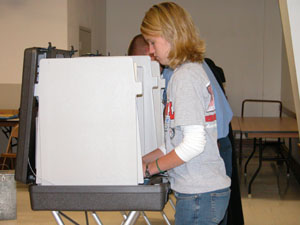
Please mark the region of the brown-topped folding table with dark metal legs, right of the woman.
[[[297, 120], [290, 117], [241, 117], [238, 118], [239, 127], [240, 127], [240, 160], [242, 153], [242, 135], [245, 134], [246, 137], [254, 138], [254, 148], [253, 152], [249, 156], [246, 164], [245, 171], [247, 171], [247, 164], [254, 155], [255, 147], [256, 147], [256, 138], [259, 139], [259, 165], [254, 175], [252, 176], [249, 186], [248, 186], [248, 197], [251, 198], [251, 185], [260, 171], [262, 161], [284, 161], [287, 165], [288, 175], [289, 175], [289, 162], [291, 157], [291, 138], [298, 138], [298, 126]], [[282, 152], [280, 151], [281, 158], [264, 158], [263, 144], [262, 138], [289, 138], [289, 149], [288, 149], [288, 157], [284, 157]], [[278, 144], [281, 144], [278, 141]]]

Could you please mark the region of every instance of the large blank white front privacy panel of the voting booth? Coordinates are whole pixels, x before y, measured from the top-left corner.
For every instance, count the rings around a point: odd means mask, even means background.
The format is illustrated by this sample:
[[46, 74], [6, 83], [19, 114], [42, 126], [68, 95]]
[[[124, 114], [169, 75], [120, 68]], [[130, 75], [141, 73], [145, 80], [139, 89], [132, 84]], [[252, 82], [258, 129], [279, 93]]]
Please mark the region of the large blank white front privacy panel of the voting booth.
[[37, 183], [142, 182], [134, 71], [131, 57], [41, 61]]

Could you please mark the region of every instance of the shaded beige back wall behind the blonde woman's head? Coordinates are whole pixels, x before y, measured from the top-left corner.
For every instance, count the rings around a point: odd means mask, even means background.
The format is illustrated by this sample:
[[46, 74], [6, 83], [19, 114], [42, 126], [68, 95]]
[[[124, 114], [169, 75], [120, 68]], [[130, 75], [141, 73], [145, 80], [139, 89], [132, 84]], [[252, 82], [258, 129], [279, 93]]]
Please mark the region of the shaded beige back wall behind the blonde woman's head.
[[[107, 1], [107, 51], [124, 55], [139, 33], [148, 0]], [[221, 66], [235, 115], [245, 98], [280, 99], [282, 30], [277, 0], [177, 0], [192, 15], [207, 41], [207, 56]], [[251, 115], [273, 114], [251, 107]]]

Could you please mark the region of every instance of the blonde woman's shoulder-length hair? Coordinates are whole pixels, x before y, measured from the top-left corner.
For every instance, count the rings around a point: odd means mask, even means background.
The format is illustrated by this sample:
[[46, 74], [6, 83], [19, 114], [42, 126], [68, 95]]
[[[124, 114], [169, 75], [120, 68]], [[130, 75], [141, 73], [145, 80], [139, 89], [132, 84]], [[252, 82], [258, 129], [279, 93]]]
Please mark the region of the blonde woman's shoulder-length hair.
[[171, 44], [169, 66], [175, 69], [184, 62], [202, 62], [205, 42], [200, 38], [190, 14], [173, 2], [153, 5], [141, 24], [147, 36], [161, 36]]

